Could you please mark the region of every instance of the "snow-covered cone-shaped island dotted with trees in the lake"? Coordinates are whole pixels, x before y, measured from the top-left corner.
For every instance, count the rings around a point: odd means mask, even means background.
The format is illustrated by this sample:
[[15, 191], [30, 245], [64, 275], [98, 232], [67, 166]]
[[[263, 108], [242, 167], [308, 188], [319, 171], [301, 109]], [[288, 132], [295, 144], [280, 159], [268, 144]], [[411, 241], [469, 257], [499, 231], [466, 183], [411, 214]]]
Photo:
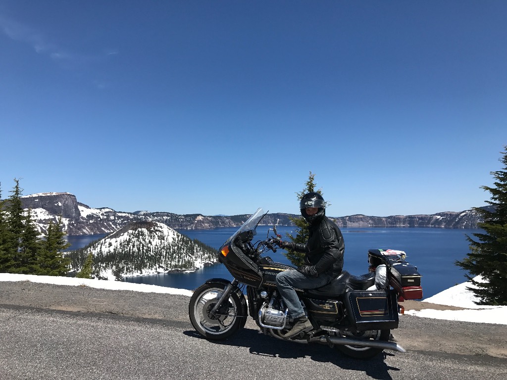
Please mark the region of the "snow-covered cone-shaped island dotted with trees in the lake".
[[87, 247], [70, 252], [73, 269], [80, 271], [90, 253], [95, 278], [108, 280], [194, 271], [218, 262], [215, 249], [152, 221], [131, 223]]

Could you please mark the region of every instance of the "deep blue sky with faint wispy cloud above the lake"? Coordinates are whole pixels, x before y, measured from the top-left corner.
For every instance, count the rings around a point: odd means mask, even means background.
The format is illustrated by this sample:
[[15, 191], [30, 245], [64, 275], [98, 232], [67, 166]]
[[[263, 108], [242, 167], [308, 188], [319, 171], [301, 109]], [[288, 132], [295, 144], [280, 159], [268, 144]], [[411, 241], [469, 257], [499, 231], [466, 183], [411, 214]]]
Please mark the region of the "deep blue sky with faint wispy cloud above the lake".
[[0, 1], [0, 181], [117, 211], [484, 205], [507, 2]]

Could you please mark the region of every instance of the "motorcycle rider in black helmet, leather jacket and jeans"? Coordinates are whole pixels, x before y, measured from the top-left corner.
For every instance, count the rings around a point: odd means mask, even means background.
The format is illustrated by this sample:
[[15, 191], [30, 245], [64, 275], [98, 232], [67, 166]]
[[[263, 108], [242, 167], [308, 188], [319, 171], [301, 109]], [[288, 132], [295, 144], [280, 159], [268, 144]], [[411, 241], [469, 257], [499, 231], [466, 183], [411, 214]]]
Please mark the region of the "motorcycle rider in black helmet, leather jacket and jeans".
[[288, 308], [288, 316], [294, 320], [294, 326], [285, 335], [289, 338], [312, 330], [294, 290], [315, 289], [329, 284], [343, 269], [343, 236], [332, 220], [325, 216], [325, 202], [316, 192], [303, 196], [300, 202], [301, 215], [308, 221], [309, 236], [305, 244], [277, 241], [280, 248], [306, 253], [305, 265], [297, 270], [280, 272], [276, 276], [276, 286]]

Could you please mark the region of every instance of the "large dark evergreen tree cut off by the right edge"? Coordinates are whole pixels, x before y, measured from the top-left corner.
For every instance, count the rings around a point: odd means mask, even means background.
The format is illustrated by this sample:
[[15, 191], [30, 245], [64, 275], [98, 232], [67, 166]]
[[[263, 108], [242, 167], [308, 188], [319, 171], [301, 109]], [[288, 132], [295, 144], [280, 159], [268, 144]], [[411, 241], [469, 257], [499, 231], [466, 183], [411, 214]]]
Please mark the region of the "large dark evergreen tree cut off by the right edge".
[[492, 207], [474, 209], [484, 218], [478, 226], [485, 234], [473, 234], [477, 241], [467, 236], [470, 243], [468, 257], [456, 261], [459, 267], [486, 281], [474, 281], [465, 275], [478, 287], [469, 288], [480, 299], [476, 302], [478, 305], [507, 306], [507, 145], [504, 150], [500, 159], [503, 169], [491, 172], [496, 179], [495, 187], [481, 186], [491, 194], [491, 201], [486, 203]]

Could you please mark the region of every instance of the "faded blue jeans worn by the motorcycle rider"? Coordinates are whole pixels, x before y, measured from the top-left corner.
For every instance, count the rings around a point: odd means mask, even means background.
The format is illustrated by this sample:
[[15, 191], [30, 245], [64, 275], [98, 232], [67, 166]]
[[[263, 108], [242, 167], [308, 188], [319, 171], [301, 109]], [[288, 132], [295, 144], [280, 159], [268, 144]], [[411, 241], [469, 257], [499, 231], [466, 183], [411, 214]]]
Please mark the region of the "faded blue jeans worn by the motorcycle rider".
[[276, 275], [276, 287], [288, 308], [288, 316], [295, 319], [305, 315], [301, 301], [294, 288], [315, 289], [329, 284], [333, 277], [321, 274], [318, 277], [306, 277], [296, 270], [280, 272]]

